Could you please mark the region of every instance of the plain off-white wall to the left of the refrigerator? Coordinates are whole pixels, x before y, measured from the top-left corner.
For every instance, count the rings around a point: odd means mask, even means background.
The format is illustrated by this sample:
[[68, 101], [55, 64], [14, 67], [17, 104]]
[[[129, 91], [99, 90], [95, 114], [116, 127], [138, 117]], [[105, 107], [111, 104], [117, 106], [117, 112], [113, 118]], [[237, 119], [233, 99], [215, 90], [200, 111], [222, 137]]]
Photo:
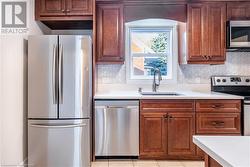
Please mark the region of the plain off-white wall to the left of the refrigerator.
[[26, 143], [27, 35], [50, 33], [34, 21], [34, 0], [27, 0], [28, 28], [25, 35], [0, 36], [0, 166], [21, 165]]

